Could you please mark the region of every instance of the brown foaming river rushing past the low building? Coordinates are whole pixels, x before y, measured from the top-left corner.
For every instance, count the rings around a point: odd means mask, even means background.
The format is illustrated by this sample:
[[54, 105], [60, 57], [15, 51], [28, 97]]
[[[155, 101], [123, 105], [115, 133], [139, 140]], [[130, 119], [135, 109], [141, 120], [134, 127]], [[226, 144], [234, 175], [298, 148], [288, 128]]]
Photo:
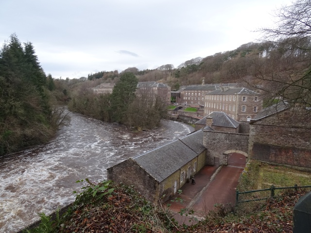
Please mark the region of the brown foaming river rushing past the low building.
[[[15, 233], [74, 201], [75, 181], [106, 179], [106, 168], [193, 131], [163, 120], [153, 131], [129, 132], [70, 113], [71, 121], [46, 145], [0, 158], [0, 232]], [[80, 186], [79, 186], [80, 185]]]

